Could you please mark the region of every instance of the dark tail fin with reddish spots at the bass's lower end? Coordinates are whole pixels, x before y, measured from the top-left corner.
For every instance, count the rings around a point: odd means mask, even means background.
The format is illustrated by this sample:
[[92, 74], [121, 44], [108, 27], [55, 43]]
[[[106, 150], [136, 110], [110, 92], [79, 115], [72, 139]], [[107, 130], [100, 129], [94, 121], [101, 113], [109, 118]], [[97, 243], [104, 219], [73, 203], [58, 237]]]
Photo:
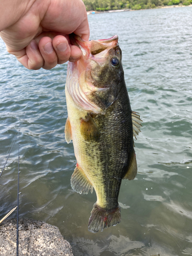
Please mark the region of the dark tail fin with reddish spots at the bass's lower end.
[[102, 232], [105, 227], [116, 226], [120, 221], [121, 209], [119, 205], [115, 209], [106, 210], [95, 203], [91, 211], [88, 230], [92, 233], [96, 233], [100, 229]]

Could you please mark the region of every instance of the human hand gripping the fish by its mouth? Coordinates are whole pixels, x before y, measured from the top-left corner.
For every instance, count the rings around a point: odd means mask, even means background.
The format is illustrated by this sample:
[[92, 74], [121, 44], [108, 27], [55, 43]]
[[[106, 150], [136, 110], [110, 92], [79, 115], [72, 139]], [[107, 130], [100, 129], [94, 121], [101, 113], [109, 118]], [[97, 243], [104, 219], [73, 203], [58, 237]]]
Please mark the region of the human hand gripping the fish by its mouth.
[[[18, 6], [6, 7], [6, 10], [17, 8], [13, 17], [5, 18], [7, 24], [0, 18], [0, 31], [3, 29], [0, 35], [7, 51], [18, 61], [28, 69], [37, 70], [52, 69], [80, 58], [82, 53], [70, 44], [69, 34], [89, 40], [87, 12], [81, 0], [15, 1]], [[0, 0], [0, 9], [3, 2], [12, 1]]]

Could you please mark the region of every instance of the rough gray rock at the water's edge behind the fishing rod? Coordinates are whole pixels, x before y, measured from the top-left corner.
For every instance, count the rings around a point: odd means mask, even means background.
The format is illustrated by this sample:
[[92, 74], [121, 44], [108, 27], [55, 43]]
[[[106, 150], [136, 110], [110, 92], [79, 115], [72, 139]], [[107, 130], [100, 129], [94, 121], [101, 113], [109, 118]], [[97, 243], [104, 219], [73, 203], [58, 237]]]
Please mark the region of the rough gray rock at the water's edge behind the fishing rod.
[[[0, 226], [0, 255], [16, 255], [16, 219]], [[19, 220], [19, 256], [73, 256], [59, 229], [42, 221]]]

